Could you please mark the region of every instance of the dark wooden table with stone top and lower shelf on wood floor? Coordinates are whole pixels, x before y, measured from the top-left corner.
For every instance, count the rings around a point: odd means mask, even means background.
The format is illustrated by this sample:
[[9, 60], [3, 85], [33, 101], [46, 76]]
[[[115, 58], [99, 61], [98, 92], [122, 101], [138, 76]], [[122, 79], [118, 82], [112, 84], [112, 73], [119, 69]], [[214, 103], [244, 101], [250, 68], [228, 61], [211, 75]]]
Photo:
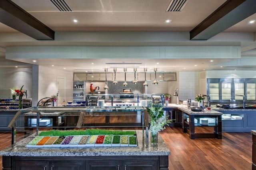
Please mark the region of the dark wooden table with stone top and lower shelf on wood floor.
[[[222, 113], [216, 110], [210, 110], [205, 112], [192, 112], [187, 108], [178, 108], [182, 111], [182, 131], [188, 133], [190, 139], [195, 138], [217, 138], [222, 139]], [[189, 122], [187, 122], [189, 118]], [[195, 118], [198, 120], [198, 123], [195, 124]], [[215, 122], [213, 124], [202, 125], [200, 124], [200, 118], [213, 118]], [[214, 127], [214, 132], [212, 133], [195, 133], [195, 126], [197, 127]]]

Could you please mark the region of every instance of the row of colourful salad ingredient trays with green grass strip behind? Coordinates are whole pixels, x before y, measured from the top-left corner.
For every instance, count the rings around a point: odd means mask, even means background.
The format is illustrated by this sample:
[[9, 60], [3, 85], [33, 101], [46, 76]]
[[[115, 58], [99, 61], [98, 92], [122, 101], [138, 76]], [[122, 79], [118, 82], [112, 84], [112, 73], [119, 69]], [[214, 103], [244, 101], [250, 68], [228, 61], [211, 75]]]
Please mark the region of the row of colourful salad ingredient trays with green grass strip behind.
[[[95, 131], [90, 130], [94, 133], [93, 135], [86, 134], [83, 130], [72, 130], [67, 131], [70, 134], [80, 133], [79, 135], [68, 135], [68, 136], [36, 136], [33, 138], [26, 147], [103, 147], [103, 146], [138, 146], [137, 136], [135, 131], [110, 131], [100, 130], [100, 134], [96, 134]], [[50, 132], [50, 131], [48, 131]], [[61, 131], [56, 130], [61, 134]], [[88, 132], [88, 130], [87, 130]], [[49, 133], [48, 133], [49, 134]], [[66, 133], [67, 134], [67, 133]]]

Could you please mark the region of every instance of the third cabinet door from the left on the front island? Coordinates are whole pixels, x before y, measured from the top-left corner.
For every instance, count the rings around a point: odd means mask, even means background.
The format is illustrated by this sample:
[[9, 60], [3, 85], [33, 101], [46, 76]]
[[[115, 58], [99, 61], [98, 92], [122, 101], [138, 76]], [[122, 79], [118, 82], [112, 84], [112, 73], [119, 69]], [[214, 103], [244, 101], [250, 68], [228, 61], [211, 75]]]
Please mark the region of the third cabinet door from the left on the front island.
[[86, 170], [121, 170], [122, 161], [89, 160], [86, 162], [86, 167]]

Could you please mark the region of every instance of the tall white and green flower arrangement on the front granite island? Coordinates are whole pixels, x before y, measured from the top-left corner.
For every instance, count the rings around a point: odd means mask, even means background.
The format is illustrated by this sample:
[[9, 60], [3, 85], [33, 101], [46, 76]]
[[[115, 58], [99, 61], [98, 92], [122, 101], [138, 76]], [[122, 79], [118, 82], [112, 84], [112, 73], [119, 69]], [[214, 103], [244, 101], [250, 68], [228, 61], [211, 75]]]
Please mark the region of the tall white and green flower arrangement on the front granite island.
[[[153, 106], [150, 103], [150, 107], [146, 107], [148, 114], [150, 116], [150, 128], [151, 138], [157, 136], [157, 133], [165, 129], [165, 125], [172, 122], [172, 119], [168, 119], [168, 116], [164, 116], [164, 110], [162, 106]], [[157, 138], [156, 138], [157, 140]], [[154, 143], [154, 141], [152, 141]]]

